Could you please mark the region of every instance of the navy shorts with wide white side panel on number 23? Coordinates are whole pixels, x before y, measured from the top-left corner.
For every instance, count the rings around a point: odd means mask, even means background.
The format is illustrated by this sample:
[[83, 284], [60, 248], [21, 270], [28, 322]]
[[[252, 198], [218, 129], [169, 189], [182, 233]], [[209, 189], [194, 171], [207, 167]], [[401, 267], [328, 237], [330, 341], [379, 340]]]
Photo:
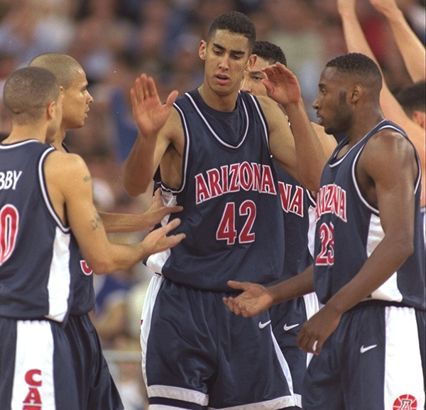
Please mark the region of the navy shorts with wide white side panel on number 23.
[[425, 408], [425, 311], [381, 301], [344, 313], [307, 368], [305, 410]]

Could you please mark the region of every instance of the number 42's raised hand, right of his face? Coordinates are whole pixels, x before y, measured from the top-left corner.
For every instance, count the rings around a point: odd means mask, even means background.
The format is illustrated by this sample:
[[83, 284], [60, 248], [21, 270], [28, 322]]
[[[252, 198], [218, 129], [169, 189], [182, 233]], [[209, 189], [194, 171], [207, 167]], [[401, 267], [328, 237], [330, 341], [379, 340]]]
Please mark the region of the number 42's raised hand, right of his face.
[[268, 97], [274, 99], [278, 104], [292, 104], [300, 102], [302, 95], [300, 85], [296, 76], [281, 63], [262, 68], [268, 79], [263, 79]]

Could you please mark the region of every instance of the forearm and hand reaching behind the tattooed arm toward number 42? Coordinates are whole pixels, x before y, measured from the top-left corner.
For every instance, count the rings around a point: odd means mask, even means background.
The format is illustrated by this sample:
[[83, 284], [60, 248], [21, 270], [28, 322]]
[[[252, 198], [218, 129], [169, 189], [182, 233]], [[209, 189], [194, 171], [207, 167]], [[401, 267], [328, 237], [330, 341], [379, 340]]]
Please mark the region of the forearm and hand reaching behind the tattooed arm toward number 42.
[[161, 198], [160, 188], [155, 191], [153, 203], [146, 212], [140, 215], [99, 212], [107, 233], [150, 231], [163, 218], [183, 210], [182, 206], [165, 206]]

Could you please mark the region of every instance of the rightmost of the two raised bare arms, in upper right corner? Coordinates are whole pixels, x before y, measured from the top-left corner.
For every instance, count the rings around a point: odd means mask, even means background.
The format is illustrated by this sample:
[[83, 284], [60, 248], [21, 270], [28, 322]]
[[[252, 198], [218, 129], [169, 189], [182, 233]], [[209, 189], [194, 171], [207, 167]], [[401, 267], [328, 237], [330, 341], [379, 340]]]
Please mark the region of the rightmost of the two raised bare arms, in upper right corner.
[[425, 80], [425, 45], [408, 24], [397, 2], [395, 0], [370, 0], [370, 3], [379, 13], [386, 17], [391, 25], [393, 37], [413, 82]]

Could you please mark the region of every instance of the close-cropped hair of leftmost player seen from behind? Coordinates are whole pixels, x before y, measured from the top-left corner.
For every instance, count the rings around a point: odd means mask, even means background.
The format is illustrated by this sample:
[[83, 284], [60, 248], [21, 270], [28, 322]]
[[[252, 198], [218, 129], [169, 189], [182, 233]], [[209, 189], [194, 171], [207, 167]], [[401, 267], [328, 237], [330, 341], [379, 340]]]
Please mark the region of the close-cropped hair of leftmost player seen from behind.
[[36, 122], [50, 102], [58, 101], [59, 95], [60, 87], [55, 75], [38, 67], [12, 72], [3, 89], [4, 105], [16, 124]]

